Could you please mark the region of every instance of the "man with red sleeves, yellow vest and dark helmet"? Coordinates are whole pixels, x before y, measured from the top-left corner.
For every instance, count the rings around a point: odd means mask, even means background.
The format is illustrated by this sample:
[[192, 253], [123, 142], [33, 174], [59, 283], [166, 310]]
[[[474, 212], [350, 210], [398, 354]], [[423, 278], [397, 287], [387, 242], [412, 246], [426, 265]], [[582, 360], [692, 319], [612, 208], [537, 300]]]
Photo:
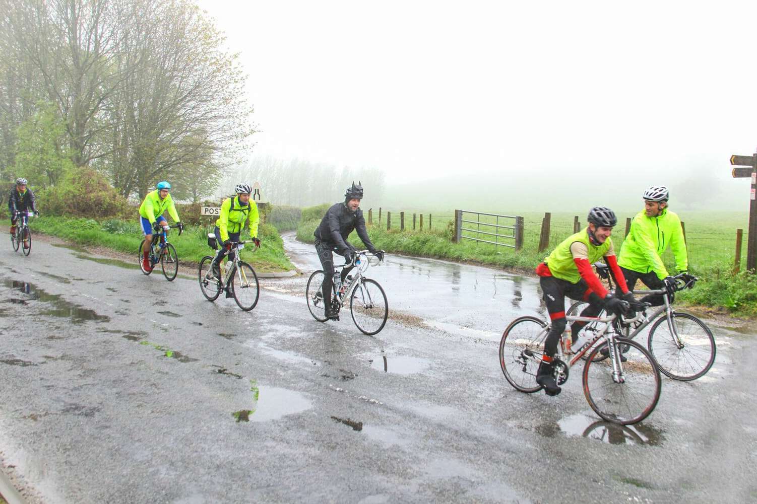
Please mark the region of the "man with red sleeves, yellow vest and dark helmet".
[[[557, 245], [536, 269], [552, 321], [544, 342], [544, 356], [536, 374], [536, 382], [549, 396], [556, 396], [561, 390], [554, 376], [553, 357], [557, 353], [560, 335], [565, 330], [565, 296], [588, 301], [590, 304], [581, 316], [589, 317], [597, 316], [603, 308], [608, 312], [623, 313], [628, 307], [623, 300], [634, 300], [618, 267], [610, 238], [612, 227], [618, 223], [615, 213], [606, 207], [593, 207], [589, 210], [588, 221], [586, 228]], [[615, 278], [618, 278], [622, 300], [613, 297], [592, 271], [591, 265], [600, 259], [606, 261]], [[584, 325], [586, 322], [574, 322], [571, 325], [573, 341], [578, 338], [578, 331]]]

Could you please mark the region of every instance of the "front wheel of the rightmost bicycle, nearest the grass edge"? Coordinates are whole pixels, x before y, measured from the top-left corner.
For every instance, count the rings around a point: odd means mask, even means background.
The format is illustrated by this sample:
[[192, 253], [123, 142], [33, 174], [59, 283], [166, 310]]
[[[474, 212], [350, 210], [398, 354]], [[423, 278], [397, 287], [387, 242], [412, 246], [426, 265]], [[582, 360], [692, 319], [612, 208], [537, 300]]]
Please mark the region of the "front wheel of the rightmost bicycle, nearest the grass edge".
[[705, 375], [715, 362], [715, 338], [704, 322], [688, 313], [671, 313], [671, 324], [681, 340], [671, 334], [668, 318], [652, 326], [646, 344], [660, 371], [674, 380], [690, 381]]

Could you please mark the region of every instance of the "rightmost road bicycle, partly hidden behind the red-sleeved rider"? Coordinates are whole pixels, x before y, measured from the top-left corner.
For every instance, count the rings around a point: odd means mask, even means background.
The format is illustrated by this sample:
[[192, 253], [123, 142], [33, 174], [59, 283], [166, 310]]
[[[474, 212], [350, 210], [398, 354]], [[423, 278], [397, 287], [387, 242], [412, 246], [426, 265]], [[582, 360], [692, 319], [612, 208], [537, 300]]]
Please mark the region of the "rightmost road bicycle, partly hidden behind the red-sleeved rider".
[[[594, 267], [597, 275], [606, 279], [612, 290], [609, 268], [604, 263], [594, 263]], [[670, 291], [667, 288], [634, 291], [634, 294], [640, 295], [660, 294], [665, 303], [646, 310], [637, 322], [622, 325], [620, 331], [624, 338], [632, 340], [651, 324], [646, 347], [660, 371], [674, 380], [696, 380], [704, 376], [715, 362], [715, 337], [702, 320], [689, 313], [677, 312], [672, 306], [674, 293], [693, 288], [697, 278], [685, 273], [673, 278], [676, 283]], [[578, 315], [586, 306], [585, 301], [577, 301], [567, 313]], [[596, 330], [597, 322], [591, 322], [581, 332]], [[598, 353], [595, 358], [602, 360], [607, 356]]]

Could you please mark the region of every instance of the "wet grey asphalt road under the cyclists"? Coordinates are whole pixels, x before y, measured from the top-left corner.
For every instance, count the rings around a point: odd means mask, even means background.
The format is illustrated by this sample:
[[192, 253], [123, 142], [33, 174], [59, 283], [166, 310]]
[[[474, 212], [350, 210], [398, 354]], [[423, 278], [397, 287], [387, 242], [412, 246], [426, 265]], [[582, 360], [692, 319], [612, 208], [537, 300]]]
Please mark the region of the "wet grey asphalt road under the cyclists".
[[502, 329], [544, 313], [534, 278], [390, 256], [368, 337], [310, 317], [307, 274], [243, 313], [42, 241], [0, 265], [0, 456], [29, 502], [757, 500], [757, 351], [730, 322], [709, 375], [663, 378], [618, 428], [576, 369], [553, 398], [503, 378]]

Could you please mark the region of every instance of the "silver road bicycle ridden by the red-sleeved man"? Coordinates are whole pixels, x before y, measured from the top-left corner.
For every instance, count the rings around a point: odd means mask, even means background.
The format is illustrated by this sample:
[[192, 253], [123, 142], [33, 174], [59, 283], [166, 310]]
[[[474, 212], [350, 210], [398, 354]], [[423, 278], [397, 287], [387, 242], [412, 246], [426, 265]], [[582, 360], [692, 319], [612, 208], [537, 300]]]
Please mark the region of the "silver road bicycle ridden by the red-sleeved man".
[[[624, 301], [625, 303], [625, 301]], [[646, 303], [628, 303], [631, 310], [641, 312]], [[639, 313], [625, 322], [639, 319]], [[584, 396], [591, 409], [607, 422], [621, 425], [641, 422], [655, 409], [660, 397], [660, 373], [650, 353], [636, 341], [621, 338], [615, 331], [615, 314], [604, 317], [565, 316], [568, 322], [603, 322], [597, 331], [576, 342], [572, 349], [570, 334], [565, 331], [557, 345], [553, 366], [557, 384], [568, 380], [570, 369], [584, 354]], [[534, 316], [519, 317], [507, 326], [500, 341], [500, 366], [507, 381], [516, 390], [532, 394], [541, 390], [536, 382], [537, 369], [544, 355], [544, 341], [550, 323]], [[621, 359], [621, 347], [626, 349]], [[603, 348], [609, 348], [611, 359], [593, 359]], [[575, 350], [575, 353], [573, 353]]]

